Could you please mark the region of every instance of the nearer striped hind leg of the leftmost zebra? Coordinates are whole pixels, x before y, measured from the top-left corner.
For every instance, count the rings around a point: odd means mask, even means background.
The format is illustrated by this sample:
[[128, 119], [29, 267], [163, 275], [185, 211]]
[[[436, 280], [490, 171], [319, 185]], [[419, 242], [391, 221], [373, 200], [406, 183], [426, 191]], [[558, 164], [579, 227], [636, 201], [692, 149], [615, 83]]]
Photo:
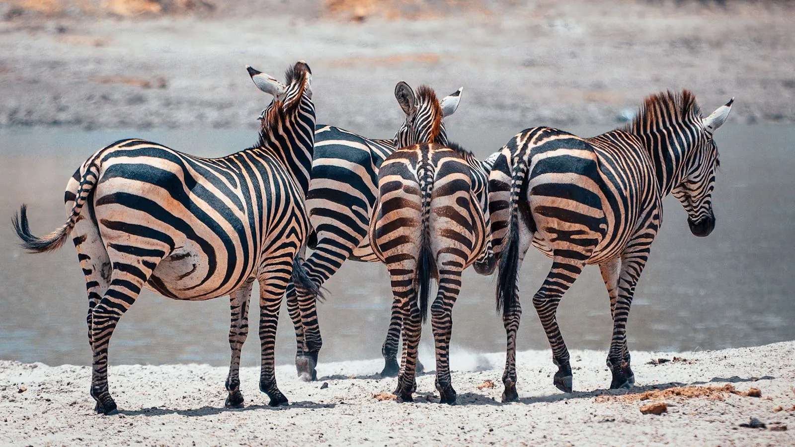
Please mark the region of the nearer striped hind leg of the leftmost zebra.
[[[109, 244], [113, 245], [113, 244]], [[114, 270], [111, 271], [111, 285], [104, 293], [102, 300], [91, 312], [91, 348], [93, 351], [93, 369], [91, 371], [91, 397], [96, 400], [97, 413], [116, 414], [116, 402], [108, 391], [107, 356], [108, 344], [118, 324], [118, 320], [130, 309], [141, 287], [151, 276], [156, 262], [148, 262], [141, 258], [115, 256], [109, 253]]]

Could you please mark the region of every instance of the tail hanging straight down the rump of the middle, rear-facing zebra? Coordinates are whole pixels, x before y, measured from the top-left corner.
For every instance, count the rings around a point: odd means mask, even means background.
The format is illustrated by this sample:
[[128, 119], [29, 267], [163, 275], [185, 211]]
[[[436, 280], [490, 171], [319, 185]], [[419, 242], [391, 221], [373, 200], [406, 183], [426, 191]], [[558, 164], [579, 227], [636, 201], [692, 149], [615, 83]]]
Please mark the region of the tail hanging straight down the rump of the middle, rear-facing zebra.
[[421, 165], [417, 169], [420, 181], [421, 197], [421, 236], [420, 256], [417, 258], [417, 276], [415, 287], [418, 289], [420, 313], [422, 322], [428, 319], [428, 298], [431, 291], [431, 277], [436, 269], [436, 260], [433, 258], [430, 237], [431, 195], [433, 193], [433, 168], [431, 165]]

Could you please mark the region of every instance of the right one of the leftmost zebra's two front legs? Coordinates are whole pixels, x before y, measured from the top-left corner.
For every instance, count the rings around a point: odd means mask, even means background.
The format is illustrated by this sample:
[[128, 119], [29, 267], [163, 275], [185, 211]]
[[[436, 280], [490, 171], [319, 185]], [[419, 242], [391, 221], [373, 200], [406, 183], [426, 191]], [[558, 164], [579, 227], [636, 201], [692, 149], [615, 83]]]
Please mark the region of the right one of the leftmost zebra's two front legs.
[[[263, 264], [276, 262], [268, 261]], [[285, 262], [292, 266], [292, 258]], [[284, 265], [282, 267], [285, 267]], [[290, 271], [289, 268], [283, 269]], [[276, 384], [276, 329], [279, 324], [281, 298], [285, 295], [289, 277], [271, 274], [271, 278], [258, 278], [259, 282], [259, 340], [262, 349], [259, 375], [259, 390], [268, 395], [270, 406], [287, 405], [285, 395], [281, 394]]]

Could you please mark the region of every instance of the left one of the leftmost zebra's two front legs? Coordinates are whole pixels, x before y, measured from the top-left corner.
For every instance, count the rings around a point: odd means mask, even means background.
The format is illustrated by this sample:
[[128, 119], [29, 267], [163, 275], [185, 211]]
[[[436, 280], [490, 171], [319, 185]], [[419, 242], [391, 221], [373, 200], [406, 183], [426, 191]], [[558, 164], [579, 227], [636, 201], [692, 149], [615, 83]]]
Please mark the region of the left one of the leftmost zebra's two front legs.
[[232, 350], [232, 357], [225, 384], [229, 395], [223, 404], [227, 408], [243, 407], [243, 395], [240, 393], [240, 351], [243, 344], [246, 343], [246, 336], [248, 336], [248, 308], [252, 286], [254, 286], [254, 278], [244, 282], [238, 290], [229, 295], [231, 308], [229, 346]]

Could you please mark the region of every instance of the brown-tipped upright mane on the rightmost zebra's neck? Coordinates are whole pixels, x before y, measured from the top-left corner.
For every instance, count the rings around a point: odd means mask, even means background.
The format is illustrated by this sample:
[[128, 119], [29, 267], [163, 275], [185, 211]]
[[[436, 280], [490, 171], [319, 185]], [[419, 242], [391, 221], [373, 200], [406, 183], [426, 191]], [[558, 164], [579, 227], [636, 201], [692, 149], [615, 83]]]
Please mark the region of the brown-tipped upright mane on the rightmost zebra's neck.
[[700, 117], [696, 95], [687, 89], [680, 94], [668, 90], [646, 97], [638, 115], [623, 130], [636, 135], [650, 134], [672, 125], [695, 122]]

